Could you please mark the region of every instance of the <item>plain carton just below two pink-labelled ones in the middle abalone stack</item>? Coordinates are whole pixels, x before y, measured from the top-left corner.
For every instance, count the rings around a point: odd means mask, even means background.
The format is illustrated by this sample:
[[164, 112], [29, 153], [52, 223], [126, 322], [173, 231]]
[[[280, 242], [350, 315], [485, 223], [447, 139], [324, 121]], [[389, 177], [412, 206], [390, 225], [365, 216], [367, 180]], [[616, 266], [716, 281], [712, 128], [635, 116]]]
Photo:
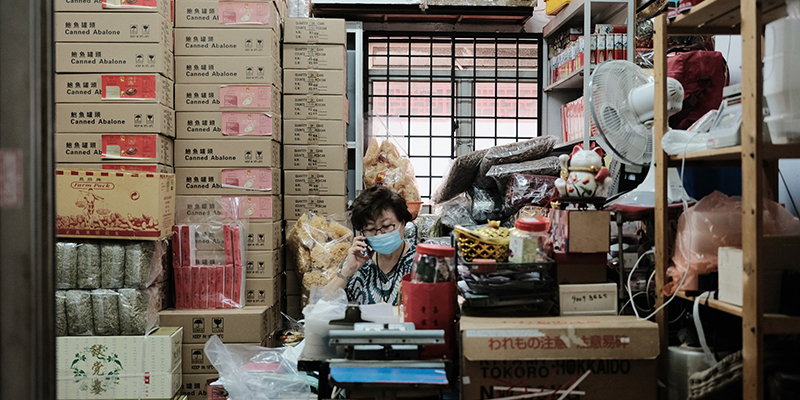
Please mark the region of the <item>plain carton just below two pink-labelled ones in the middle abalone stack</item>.
[[280, 168], [281, 145], [269, 139], [175, 140], [175, 166]]

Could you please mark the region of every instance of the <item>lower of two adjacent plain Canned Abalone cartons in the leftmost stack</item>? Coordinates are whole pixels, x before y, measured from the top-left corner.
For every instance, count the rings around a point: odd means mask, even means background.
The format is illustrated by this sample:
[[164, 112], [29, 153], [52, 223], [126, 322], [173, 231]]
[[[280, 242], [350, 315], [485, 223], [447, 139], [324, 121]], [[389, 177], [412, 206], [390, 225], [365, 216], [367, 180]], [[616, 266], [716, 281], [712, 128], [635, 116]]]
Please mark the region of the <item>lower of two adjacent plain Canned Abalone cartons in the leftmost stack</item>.
[[170, 49], [154, 43], [56, 43], [56, 72], [158, 73], [172, 79]]

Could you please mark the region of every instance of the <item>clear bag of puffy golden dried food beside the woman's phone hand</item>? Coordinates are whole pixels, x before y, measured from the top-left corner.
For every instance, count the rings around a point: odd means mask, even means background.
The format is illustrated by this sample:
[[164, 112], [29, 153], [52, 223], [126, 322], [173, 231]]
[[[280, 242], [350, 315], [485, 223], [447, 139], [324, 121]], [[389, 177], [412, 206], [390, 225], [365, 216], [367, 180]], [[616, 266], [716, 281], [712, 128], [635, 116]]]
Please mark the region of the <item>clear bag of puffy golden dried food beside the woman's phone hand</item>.
[[286, 236], [289, 254], [303, 282], [304, 304], [311, 288], [327, 285], [347, 258], [353, 231], [344, 221], [341, 215], [326, 218], [309, 212], [300, 217]]

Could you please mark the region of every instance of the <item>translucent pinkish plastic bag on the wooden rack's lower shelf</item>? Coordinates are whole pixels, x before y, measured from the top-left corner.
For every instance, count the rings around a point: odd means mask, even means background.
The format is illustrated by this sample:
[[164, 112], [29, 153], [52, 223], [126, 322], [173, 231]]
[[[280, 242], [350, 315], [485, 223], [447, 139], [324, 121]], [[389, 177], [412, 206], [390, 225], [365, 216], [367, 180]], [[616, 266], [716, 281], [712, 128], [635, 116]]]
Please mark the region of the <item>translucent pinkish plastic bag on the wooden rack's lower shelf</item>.
[[[764, 234], [796, 235], [800, 220], [774, 201], [764, 200]], [[691, 269], [680, 290], [696, 290], [697, 275], [717, 270], [720, 247], [742, 246], [742, 201], [714, 191], [678, 219], [678, 234], [664, 294], [672, 296], [687, 266]]]

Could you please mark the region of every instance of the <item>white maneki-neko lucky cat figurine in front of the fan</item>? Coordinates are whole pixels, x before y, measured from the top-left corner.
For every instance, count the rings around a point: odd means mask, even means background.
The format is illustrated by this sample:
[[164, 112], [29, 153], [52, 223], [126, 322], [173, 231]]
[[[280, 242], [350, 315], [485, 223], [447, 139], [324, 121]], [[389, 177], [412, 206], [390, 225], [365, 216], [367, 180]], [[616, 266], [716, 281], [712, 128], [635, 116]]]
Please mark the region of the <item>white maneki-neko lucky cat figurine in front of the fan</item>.
[[583, 150], [575, 146], [572, 154], [558, 157], [561, 178], [556, 179], [560, 197], [604, 197], [613, 179], [603, 167], [603, 149]]

